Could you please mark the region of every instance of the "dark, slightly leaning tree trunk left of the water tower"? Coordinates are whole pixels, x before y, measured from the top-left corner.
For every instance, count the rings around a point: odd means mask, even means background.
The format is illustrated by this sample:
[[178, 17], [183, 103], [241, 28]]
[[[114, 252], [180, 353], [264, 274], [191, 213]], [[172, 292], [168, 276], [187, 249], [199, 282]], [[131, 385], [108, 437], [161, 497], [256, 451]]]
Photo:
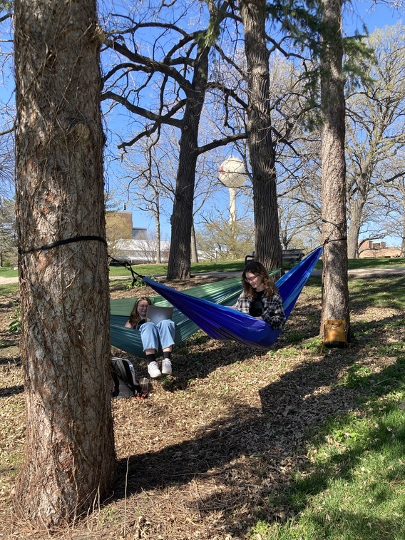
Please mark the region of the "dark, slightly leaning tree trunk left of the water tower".
[[191, 227], [193, 225], [193, 202], [195, 167], [198, 158], [198, 126], [208, 80], [209, 46], [198, 45], [190, 91], [183, 116], [180, 138], [180, 154], [176, 177], [175, 200], [170, 218], [172, 225], [168, 280], [190, 278]]

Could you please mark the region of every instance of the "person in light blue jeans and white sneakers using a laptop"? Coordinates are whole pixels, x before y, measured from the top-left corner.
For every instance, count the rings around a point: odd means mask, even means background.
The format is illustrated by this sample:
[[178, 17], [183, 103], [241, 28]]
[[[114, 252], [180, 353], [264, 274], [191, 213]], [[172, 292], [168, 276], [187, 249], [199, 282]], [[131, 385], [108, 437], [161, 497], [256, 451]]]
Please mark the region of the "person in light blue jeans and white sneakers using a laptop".
[[[152, 302], [147, 296], [140, 296], [136, 300], [129, 319], [125, 322], [125, 327], [140, 330], [143, 350], [148, 362], [148, 373], [155, 379], [160, 375], [172, 374], [171, 353], [174, 345], [175, 323], [173, 320], [161, 320], [157, 325], [146, 321], [148, 305]], [[158, 362], [155, 360], [155, 353], [159, 350], [159, 341], [162, 345], [163, 360], [162, 371], [160, 372]]]

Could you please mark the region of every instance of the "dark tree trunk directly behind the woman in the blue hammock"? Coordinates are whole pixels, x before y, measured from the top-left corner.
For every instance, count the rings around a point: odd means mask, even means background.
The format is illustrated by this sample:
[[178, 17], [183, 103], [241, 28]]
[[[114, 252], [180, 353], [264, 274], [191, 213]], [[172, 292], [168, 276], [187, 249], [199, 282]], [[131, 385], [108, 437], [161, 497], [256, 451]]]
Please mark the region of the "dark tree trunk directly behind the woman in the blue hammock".
[[266, 268], [282, 267], [277, 209], [275, 151], [271, 135], [269, 51], [265, 0], [241, 0], [247, 60], [247, 144], [252, 168], [256, 260]]

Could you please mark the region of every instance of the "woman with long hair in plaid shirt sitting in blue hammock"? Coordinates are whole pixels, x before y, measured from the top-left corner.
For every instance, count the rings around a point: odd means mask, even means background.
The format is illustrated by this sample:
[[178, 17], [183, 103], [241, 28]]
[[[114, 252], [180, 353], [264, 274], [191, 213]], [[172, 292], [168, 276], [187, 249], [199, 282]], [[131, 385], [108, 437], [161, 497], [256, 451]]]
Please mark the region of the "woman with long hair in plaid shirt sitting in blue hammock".
[[242, 273], [242, 285], [243, 292], [233, 309], [264, 320], [275, 330], [282, 330], [286, 320], [282, 297], [262, 263], [247, 263]]

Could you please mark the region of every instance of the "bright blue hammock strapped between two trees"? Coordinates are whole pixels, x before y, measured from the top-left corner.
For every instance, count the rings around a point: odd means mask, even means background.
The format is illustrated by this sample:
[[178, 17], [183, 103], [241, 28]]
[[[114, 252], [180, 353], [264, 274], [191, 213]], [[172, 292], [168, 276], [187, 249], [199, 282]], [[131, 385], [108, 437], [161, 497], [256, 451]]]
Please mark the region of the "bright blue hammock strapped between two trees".
[[[314, 250], [277, 281], [276, 285], [282, 297], [287, 319], [322, 250], [323, 248]], [[281, 332], [274, 330], [267, 322], [232, 310], [230, 307], [191, 297], [149, 277], [143, 277], [143, 280], [215, 340], [234, 340], [247, 347], [268, 349]]]

